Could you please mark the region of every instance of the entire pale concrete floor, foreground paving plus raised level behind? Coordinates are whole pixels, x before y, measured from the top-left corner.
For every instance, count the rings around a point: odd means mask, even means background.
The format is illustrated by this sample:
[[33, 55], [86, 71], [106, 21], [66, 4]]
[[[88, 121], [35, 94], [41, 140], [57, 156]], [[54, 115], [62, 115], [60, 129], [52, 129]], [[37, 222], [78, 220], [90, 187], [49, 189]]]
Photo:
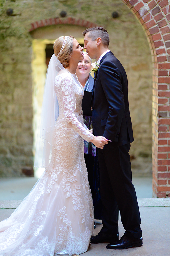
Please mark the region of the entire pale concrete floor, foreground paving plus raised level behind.
[[[22, 200], [31, 190], [37, 179], [15, 178], [0, 179], [0, 200]], [[107, 243], [91, 244], [90, 248], [82, 255], [85, 256], [169, 256], [170, 255], [170, 198], [151, 198], [152, 197], [152, 178], [134, 177], [133, 184], [138, 197], [141, 228], [143, 233], [143, 246], [129, 248], [126, 250], [108, 250]], [[9, 205], [16, 201], [1, 201], [0, 221], [8, 218], [14, 209]], [[3, 207], [4, 205], [4, 207]], [[8, 206], [5, 206], [8, 205]], [[160, 207], [150, 207], [160, 206]], [[164, 206], [164, 207], [162, 207]], [[16, 207], [16, 206], [15, 206]], [[95, 235], [102, 227], [101, 220], [97, 220]], [[124, 228], [119, 218], [120, 237], [124, 233]], [[36, 256], [36, 255], [35, 255]]]

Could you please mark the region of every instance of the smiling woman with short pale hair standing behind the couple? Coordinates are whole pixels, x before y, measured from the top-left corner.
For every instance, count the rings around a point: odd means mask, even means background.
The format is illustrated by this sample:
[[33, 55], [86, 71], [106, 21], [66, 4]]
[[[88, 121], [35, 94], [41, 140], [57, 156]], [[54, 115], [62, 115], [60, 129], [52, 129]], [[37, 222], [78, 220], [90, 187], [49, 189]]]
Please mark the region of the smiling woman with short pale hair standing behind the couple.
[[[84, 59], [81, 60], [76, 69], [76, 75], [79, 82], [84, 88], [84, 91], [93, 91], [94, 79], [90, 74], [92, 60], [83, 52]], [[89, 130], [92, 127], [92, 117], [83, 115], [84, 123]], [[99, 164], [97, 156], [97, 148], [91, 143], [84, 140], [84, 158], [88, 172], [88, 180], [93, 197], [93, 205], [95, 212], [95, 219], [101, 219], [102, 203], [100, 197], [100, 180], [99, 180]]]

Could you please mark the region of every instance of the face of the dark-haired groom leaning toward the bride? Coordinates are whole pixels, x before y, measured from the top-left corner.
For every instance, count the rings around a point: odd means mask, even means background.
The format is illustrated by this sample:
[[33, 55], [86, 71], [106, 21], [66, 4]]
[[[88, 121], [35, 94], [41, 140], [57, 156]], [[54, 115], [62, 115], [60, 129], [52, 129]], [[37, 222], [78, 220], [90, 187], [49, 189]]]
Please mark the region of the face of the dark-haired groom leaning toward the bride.
[[88, 37], [90, 32], [85, 34], [84, 36], [84, 49], [87, 52], [87, 55], [91, 59], [96, 59], [96, 53], [97, 53], [97, 39], [95, 41], [92, 41], [90, 37]]

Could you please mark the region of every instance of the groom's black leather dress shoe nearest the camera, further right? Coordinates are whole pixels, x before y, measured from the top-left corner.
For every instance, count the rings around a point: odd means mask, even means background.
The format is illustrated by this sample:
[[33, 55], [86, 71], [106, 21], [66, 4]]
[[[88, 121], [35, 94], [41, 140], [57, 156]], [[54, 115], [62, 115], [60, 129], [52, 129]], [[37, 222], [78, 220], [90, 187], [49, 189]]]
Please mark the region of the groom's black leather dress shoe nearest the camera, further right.
[[128, 238], [125, 235], [123, 235], [119, 241], [114, 243], [109, 243], [106, 248], [107, 249], [127, 249], [130, 247], [139, 247], [142, 246], [142, 237], [141, 238]]

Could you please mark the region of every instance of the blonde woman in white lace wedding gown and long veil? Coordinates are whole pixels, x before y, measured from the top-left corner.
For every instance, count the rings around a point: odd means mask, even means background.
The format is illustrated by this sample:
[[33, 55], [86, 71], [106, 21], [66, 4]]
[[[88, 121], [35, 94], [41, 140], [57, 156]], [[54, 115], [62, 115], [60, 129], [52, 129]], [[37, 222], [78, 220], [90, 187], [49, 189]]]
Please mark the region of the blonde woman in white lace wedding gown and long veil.
[[45, 172], [0, 222], [0, 256], [73, 255], [88, 249], [94, 212], [83, 139], [99, 148], [108, 140], [95, 137], [83, 124], [84, 90], [75, 74], [82, 50], [73, 36], [54, 43], [35, 155], [35, 166]]

